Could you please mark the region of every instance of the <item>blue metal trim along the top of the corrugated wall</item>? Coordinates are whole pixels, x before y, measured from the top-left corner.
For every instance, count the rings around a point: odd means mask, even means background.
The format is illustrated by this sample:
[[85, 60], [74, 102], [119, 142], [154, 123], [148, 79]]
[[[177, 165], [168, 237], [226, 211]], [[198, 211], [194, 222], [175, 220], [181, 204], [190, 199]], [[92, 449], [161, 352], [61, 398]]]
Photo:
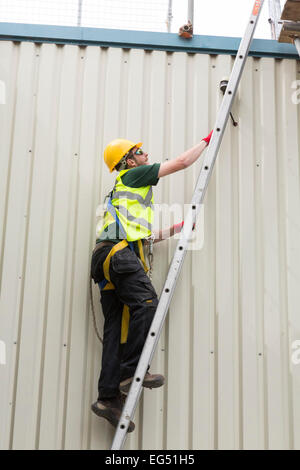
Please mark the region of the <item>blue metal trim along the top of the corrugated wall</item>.
[[[23, 23], [0, 23], [0, 40], [229, 55], [236, 55], [240, 44], [240, 38], [223, 36], [195, 35], [192, 39], [183, 39], [174, 33]], [[294, 45], [268, 39], [254, 39], [249, 55], [299, 59]]]

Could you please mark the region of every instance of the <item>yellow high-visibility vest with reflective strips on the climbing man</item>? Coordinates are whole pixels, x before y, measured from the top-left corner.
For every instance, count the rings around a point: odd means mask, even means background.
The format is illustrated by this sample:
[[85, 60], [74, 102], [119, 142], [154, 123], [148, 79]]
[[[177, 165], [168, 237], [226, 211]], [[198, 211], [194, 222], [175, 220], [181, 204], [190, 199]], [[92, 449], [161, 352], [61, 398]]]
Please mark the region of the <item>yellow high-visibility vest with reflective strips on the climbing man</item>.
[[131, 188], [122, 183], [122, 176], [130, 170], [122, 170], [116, 178], [103, 226], [97, 231], [97, 238], [111, 224], [119, 225], [119, 237], [128, 241], [147, 238], [152, 233], [154, 220], [152, 186]]

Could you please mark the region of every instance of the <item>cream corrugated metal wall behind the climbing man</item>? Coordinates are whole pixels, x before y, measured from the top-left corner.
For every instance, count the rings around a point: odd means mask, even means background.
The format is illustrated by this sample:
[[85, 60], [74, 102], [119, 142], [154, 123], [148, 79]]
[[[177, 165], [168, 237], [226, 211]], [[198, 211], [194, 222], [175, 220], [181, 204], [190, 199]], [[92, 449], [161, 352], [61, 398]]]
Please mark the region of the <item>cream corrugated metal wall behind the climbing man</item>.
[[[0, 43], [0, 443], [106, 449], [89, 303], [95, 211], [117, 136], [173, 158], [213, 127], [230, 56]], [[300, 448], [299, 106], [294, 60], [249, 58], [128, 449]], [[188, 203], [201, 162], [163, 178]], [[176, 241], [155, 247], [160, 292]], [[99, 294], [94, 288], [99, 312]]]

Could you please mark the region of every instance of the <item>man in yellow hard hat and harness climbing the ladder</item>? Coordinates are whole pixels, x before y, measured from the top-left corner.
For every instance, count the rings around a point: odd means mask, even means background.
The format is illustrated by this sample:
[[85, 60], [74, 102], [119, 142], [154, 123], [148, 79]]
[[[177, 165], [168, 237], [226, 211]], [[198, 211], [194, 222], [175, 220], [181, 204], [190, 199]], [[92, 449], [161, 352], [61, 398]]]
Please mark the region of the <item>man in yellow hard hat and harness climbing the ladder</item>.
[[[110, 142], [104, 161], [119, 172], [110, 193], [104, 221], [97, 231], [91, 276], [99, 284], [105, 318], [102, 370], [98, 400], [92, 411], [118, 425], [124, 396], [130, 388], [151, 326], [158, 299], [146, 272], [143, 245], [149, 237], [160, 241], [181, 231], [183, 222], [152, 234], [152, 186], [159, 178], [191, 166], [210, 142], [212, 132], [177, 158], [149, 165], [142, 143], [125, 139]], [[143, 386], [156, 388], [164, 377], [147, 373]], [[128, 432], [134, 430], [131, 421]]]

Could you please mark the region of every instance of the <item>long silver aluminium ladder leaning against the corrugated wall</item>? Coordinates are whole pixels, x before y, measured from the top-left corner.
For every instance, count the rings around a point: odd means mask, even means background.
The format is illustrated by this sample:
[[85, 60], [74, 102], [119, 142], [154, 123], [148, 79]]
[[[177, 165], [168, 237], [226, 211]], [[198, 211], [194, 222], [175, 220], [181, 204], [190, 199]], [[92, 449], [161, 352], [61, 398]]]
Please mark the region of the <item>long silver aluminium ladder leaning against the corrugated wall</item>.
[[225, 92], [210, 145], [204, 157], [201, 172], [197, 181], [190, 209], [188, 211], [181, 238], [178, 241], [175, 254], [170, 264], [166, 282], [164, 284], [159, 303], [153, 318], [138, 366], [136, 368], [134, 378], [127, 396], [123, 412], [117, 426], [111, 450], [120, 450], [125, 442], [127, 429], [131, 418], [134, 415], [138, 400], [142, 391], [142, 383], [148, 366], [151, 364], [152, 357], [158, 343], [160, 333], [163, 328], [164, 320], [175, 290], [176, 282], [186, 255], [192, 228], [196, 221], [197, 214], [200, 210], [205, 196], [205, 192], [211, 177], [214, 163], [216, 161], [218, 151], [221, 145], [222, 137], [225, 132], [229, 113], [233, 104], [233, 100], [238, 89], [238, 85], [244, 70], [244, 66], [248, 57], [250, 45], [258, 23], [264, 0], [255, 0], [250, 21], [247, 25], [245, 35], [241, 41], [238, 54], [236, 56], [231, 77]]

